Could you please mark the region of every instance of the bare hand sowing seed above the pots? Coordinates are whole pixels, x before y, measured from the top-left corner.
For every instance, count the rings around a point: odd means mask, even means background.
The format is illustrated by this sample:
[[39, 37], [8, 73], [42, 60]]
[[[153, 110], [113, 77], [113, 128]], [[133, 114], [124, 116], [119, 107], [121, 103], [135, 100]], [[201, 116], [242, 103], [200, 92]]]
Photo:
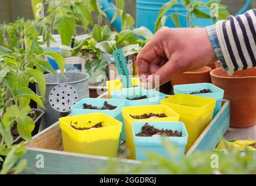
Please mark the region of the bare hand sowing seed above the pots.
[[[179, 74], [218, 60], [206, 28], [159, 30], [137, 56], [138, 74], [144, 83], [160, 85]], [[152, 87], [147, 87], [152, 88]]]

